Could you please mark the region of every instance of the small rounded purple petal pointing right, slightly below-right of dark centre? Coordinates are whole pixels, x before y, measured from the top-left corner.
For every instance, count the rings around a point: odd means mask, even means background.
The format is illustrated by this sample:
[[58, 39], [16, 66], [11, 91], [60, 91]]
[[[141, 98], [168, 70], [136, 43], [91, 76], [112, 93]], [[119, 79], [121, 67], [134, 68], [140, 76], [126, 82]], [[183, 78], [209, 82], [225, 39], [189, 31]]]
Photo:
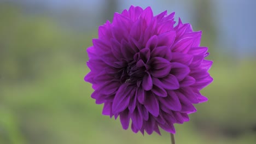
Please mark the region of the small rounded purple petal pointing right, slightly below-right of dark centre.
[[179, 82], [176, 78], [176, 76], [172, 74], [168, 74], [167, 76], [159, 79], [161, 81], [161, 86], [165, 89], [178, 89], [179, 88]]

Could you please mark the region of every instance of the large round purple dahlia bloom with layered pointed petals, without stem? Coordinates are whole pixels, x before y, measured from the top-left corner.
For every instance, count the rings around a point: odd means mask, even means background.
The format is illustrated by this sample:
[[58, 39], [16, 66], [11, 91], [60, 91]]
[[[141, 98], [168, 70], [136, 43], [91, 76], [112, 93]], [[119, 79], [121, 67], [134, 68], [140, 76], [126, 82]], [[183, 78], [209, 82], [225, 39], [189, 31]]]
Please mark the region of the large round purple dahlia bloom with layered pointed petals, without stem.
[[131, 119], [134, 133], [160, 134], [161, 127], [174, 134], [173, 124], [189, 121], [193, 104], [207, 101], [200, 90], [213, 80], [212, 62], [199, 46], [202, 32], [173, 19], [174, 13], [153, 16], [150, 7], [131, 6], [100, 26], [87, 50], [91, 97], [124, 129]]

